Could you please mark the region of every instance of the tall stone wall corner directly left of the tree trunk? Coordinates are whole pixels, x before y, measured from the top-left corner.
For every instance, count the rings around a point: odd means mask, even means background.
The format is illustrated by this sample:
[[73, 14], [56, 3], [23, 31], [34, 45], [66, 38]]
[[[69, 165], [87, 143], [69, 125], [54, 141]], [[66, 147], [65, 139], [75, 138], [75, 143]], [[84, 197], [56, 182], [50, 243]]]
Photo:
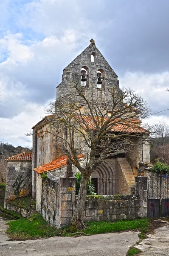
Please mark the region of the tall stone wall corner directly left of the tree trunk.
[[48, 173], [45, 180], [37, 178], [37, 186], [42, 191], [41, 197], [37, 196], [37, 212], [56, 228], [70, 224], [75, 209], [75, 178], [54, 179]]

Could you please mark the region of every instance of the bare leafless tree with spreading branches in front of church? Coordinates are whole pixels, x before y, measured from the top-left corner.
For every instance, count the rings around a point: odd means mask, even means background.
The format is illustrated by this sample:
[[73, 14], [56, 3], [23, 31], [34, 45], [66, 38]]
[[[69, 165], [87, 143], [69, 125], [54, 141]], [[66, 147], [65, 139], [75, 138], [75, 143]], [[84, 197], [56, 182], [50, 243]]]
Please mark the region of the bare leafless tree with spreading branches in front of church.
[[[149, 113], [146, 102], [131, 89], [109, 90], [109, 102], [101, 101], [91, 93], [88, 97], [79, 82], [70, 84], [70, 90], [56, 102], [51, 102], [47, 113], [60, 150], [82, 174], [79, 197], [71, 220], [71, 230], [84, 228], [83, 210], [87, 183], [92, 172], [110, 156], [129, 152], [131, 146], [145, 139], [147, 131], [139, 119]], [[80, 104], [81, 103], [81, 104]], [[83, 154], [84, 161], [78, 155]]]

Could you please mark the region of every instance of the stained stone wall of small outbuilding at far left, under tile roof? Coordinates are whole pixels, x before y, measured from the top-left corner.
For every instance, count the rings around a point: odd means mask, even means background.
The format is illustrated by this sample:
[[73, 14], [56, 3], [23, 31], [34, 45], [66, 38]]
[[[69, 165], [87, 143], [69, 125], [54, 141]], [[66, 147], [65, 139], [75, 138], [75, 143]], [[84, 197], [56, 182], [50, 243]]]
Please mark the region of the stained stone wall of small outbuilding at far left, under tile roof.
[[17, 197], [30, 196], [32, 184], [32, 161], [8, 161], [5, 204]]

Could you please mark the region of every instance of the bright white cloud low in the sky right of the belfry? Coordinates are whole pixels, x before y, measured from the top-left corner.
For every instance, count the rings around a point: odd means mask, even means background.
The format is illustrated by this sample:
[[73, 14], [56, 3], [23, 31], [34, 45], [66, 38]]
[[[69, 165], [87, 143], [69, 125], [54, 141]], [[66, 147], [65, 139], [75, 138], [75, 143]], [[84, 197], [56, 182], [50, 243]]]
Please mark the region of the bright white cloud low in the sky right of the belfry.
[[[166, 91], [166, 87], [169, 87], [169, 72], [154, 74], [127, 72], [119, 80], [121, 87], [130, 87], [145, 99], [152, 113], [169, 108], [169, 92]], [[150, 115], [144, 123], [152, 125], [159, 121], [169, 124], [169, 111]]]

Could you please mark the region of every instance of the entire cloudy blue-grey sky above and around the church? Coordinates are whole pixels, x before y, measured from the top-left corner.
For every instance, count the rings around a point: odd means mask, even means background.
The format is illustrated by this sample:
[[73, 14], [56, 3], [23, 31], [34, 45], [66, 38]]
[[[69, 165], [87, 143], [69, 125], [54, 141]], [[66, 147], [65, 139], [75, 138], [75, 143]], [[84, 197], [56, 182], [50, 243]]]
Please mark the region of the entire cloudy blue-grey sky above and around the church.
[[[0, 0], [0, 141], [26, 137], [56, 98], [62, 70], [91, 38], [120, 87], [169, 108], [169, 0]], [[169, 111], [149, 116], [165, 120]]]

